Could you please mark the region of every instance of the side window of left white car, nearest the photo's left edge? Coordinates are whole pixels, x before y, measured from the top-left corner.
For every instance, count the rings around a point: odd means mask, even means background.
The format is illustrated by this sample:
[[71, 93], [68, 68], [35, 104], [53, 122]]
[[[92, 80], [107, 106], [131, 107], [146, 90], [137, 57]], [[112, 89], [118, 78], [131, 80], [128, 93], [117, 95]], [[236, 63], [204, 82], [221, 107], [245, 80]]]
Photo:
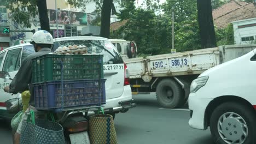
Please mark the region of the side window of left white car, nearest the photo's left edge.
[[20, 68], [21, 49], [9, 50], [5, 57], [3, 71], [11, 72]]

